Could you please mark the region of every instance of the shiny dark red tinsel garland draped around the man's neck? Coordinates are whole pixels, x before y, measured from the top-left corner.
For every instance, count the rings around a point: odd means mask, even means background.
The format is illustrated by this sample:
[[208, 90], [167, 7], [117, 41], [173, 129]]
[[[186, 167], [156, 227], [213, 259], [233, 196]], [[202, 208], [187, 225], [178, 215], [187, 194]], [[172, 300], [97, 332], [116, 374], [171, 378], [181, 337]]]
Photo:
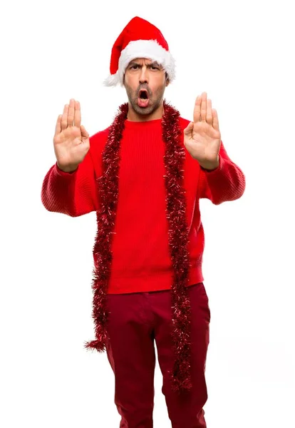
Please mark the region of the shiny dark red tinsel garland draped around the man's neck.
[[[105, 350], [108, 340], [106, 299], [112, 265], [112, 238], [118, 204], [120, 142], [123, 136], [128, 103], [122, 104], [110, 126], [103, 151], [103, 175], [97, 179], [100, 210], [96, 213], [98, 229], [93, 248], [93, 320], [95, 340], [86, 342], [86, 349]], [[170, 256], [172, 260], [172, 342], [175, 362], [170, 372], [172, 390], [181, 392], [192, 387], [190, 376], [190, 298], [187, 284], [190, 273], [186, 199], [183, 187], [185, 148], [180, 129], [180, 113], [164, 101], [162, 141], [165, 143], [165, 188], [167, 222], [169, 225]]]

